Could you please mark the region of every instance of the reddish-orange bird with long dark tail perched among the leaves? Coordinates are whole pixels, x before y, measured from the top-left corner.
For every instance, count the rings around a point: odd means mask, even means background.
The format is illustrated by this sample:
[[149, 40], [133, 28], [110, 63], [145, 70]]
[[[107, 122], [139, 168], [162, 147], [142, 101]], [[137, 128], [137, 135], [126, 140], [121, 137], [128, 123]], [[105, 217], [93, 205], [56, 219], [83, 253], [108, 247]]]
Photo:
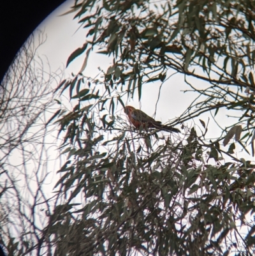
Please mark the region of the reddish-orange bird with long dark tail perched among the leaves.
[[167, 132], [180, 132], [180, 130], [178, 130], [177, 128], [161, 124], [160, 121], [156, 121], [140, 109], [135, 109], [134, 107], [126, 106], [124, 110], [125, 113], [128, 115], [129, 121], [136, 128], [140, 128], [140, 126], [143, 126], [143, 129], [156, 128]]

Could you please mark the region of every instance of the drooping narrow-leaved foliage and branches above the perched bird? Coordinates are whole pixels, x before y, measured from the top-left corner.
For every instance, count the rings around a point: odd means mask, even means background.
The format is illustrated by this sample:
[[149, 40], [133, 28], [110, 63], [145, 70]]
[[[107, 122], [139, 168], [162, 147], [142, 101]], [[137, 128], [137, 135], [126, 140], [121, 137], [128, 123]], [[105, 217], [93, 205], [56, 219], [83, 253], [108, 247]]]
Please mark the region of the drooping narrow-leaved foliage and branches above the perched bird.
[[201, 100], [175, 123], [210, 110], [237, 110], [237, 123], [246, 124], [245, 142], [254, 131], [253, 10], [253, 1], [86, 0], [73, 6], [89, 29], [84, 45], [99, 46], [114, 59], [106, 82], [128, 84], [129, 93], [138, 89], [141, 96], [143, 84], [163, 81], [168, 70], [204, 80], [202, 89], [189, 83]]

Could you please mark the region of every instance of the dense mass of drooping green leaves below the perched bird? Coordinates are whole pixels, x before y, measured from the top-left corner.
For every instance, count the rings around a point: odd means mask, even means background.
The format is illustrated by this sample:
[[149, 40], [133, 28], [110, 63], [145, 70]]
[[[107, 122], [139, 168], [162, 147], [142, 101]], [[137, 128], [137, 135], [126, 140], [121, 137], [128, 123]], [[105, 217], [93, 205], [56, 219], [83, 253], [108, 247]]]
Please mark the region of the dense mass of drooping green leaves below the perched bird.
[[[68, 120], [68, 160], [57, 183], [66, 204], [49, 229], [59, 255], [252, 255], [254, 222], [245, 215], [254, 207], [254, 165], [208, 164], [219, 149], [194, 130], [184, 143], [128, 126], [104, 140], [92, 108]], [[70, 210], [77, 197], [81, 205]], [[249, 234], [240, 234], [240, 223]]]

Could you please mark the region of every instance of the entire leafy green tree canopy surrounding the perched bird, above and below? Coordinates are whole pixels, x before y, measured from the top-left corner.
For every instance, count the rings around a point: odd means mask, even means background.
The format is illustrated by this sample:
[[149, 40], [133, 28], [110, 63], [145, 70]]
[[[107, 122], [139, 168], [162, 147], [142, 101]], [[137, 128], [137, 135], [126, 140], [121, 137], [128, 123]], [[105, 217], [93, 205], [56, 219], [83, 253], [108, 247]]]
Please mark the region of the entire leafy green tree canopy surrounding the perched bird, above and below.
[[[254, 154], [254, 3], [84, 0], [72, 11], [88, 33], [67, 64], [87, 52], [80, 73], [57, 88], [77, 105], [55, 114], [68, 157], [56, 185], [66, 202], [49, 229], [56, 252], [254, 255], [254, 164], [233, 154], [235, 144], [249, 153], [249, 142]], [[113, 60], [103, 81], [82, 75], [98, 47]], [[164, 82], [169, 70], [198, 95], [171, 122], [184, 134], [133, 130], [118, 112], [124, 100], [140, 99], [144, 84]], [[200, 135], [187, 128], [219, 109], [237, 121], [216, 139], [207, 139], [203, 120]], [[222, 140], [226, 146], [234, 135], [224, 151]]]

